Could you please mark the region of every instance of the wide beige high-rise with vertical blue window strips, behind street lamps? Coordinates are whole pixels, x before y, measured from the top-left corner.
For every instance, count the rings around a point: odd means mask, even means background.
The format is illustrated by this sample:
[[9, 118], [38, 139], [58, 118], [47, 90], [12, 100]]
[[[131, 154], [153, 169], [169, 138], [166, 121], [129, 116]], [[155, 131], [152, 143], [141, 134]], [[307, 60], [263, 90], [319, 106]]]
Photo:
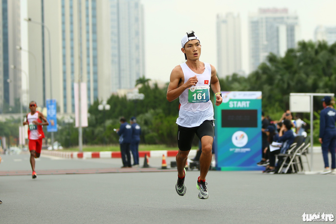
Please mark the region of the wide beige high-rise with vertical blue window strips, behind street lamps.
[[[97, 0], [28, 2], [31, 21], [25, 38], [37, 61], [30, 96], [39, 105], [52, 98], [61, 113], [74, 113], [74, 83], [80, 78], [87, 84], [88, 104], [98, 99], [98, 16]], [[33, 63], [29, 60], [30, 73]]]

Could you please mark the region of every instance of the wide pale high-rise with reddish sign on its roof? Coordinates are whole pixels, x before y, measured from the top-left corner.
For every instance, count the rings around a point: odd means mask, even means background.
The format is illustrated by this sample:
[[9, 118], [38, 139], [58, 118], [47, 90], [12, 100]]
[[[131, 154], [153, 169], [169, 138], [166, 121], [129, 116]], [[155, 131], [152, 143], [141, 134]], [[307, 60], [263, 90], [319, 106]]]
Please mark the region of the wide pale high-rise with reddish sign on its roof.
[[299, 19], [287, 8], [261, 8], [249, 14], [250, 71], [255, 70], [272, 52], [284, 56], [300, 39]]

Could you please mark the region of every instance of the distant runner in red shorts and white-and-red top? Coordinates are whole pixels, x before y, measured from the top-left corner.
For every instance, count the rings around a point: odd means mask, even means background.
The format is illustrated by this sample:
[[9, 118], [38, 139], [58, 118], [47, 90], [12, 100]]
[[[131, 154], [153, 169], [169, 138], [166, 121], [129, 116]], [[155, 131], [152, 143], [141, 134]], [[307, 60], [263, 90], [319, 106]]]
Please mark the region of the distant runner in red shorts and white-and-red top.
[[49, 125], [47, 119], [44, 115], [36, 111], [36, 102], [31, 101], [29, 103], [30, 113], [27, 114], [27, 121], [23, 122], [23, 125], [28, 124], [28, 139], [29, 139], [29, 151], [30, 151], [30, 164], [32, 166], [33, 174], [32, 178], [37, 177], [35, 172], [35, 158], [40, 157], [42, 149], [42, 139], [44, 138], [44, 133], [42, 130], [42, 125]]

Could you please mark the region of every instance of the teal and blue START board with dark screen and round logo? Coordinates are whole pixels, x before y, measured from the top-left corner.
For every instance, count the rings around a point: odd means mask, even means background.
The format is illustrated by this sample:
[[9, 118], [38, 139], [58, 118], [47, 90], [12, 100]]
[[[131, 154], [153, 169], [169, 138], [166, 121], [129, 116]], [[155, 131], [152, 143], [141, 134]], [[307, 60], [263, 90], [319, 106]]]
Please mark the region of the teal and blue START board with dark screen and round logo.
[[215, 106], [216, 169], [263, 170], [261, 159], [261, 91], [222, 91]]

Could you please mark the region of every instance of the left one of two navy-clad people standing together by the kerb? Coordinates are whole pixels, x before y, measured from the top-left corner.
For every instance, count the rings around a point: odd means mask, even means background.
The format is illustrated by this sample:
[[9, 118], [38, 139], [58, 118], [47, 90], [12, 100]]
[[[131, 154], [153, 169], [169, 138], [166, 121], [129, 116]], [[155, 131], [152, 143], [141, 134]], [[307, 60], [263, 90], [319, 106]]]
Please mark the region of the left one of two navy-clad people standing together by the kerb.
[[132, 126], [126, 122], [124, 117], [120, 118], [120, 128], [116, 130], [119, 137], [121, 159], [123, 166], [121, 168], [132, 167], [130, 144], [132, 139]]

